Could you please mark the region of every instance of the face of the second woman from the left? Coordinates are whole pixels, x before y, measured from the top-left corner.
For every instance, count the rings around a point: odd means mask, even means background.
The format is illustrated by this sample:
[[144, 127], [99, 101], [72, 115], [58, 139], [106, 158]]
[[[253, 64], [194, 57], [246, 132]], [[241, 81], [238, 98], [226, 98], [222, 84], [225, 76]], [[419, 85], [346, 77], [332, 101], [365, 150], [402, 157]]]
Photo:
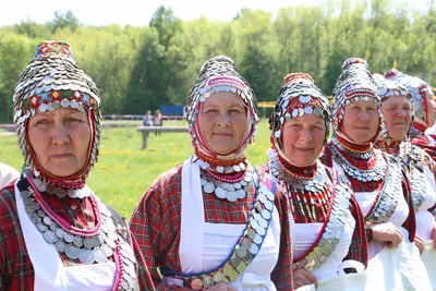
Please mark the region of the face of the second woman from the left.
[[241, 98], [231, 92], [218, 92], [204, 101], [198, 122], [211, 150], [226, 156], [238, 149], [249, 122], [246, 110]]

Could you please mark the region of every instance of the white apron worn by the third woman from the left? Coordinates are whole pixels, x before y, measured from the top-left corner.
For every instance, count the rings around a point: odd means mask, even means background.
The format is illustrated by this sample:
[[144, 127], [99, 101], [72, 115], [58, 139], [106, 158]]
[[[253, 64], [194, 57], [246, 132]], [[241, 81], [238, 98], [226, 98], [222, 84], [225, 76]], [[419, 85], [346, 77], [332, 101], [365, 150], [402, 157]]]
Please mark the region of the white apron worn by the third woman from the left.
[[[366, 282], [365, 267], [356, 260], [342, 262], [347, 256], [354, 232], [355, 220], [350, 211], [346, 219], [342, 238], [335, 247], [335, 251], [328, 256], [326, 262], [311, 272], [318, 280], [318, 289], [315, 284], [303, 286], [298, 291], [336, 291], [347, 288], [347, 290], [363, 291]], [[293, 239], [294, 254], [300, 256], [305, 253], [315, 242], [323, 223], [295, 223], [291, 216], [291, 232]], [[358, 274], [346, 274], [344, 268], [353, 267]]]

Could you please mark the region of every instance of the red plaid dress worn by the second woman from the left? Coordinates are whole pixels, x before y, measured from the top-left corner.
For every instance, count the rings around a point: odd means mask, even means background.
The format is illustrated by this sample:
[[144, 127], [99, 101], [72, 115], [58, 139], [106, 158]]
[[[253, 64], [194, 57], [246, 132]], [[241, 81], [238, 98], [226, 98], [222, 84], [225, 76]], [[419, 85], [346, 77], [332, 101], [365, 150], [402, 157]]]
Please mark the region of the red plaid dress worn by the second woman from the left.
[[[162, 173], [140, 201], [131, 220], [131, 231], [143, 251], [156, 290], [189, 290], [162, 283], [158, 268], [181, 271], [179, 258], [181, 227], [181, 171], [178, 165]], [[235, 203], [204, 193], [205, 221], [210, 223], [245, 223], [253, 195]], [[281, 234], [279, 259], [271, 274], [277, 290], [292, 290], [292, 257], [289, 203], [286, 195], [276, 194]]]

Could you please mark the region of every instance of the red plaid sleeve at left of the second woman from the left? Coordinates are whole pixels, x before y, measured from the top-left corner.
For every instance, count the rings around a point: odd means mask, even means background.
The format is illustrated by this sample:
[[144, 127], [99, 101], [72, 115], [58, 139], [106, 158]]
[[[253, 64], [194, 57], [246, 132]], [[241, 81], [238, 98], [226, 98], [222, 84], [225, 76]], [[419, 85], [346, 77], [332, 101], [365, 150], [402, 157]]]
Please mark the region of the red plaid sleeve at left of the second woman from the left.
[[[130, 229], [144, 255], [156, 290], [187, 290], [162, 283], [159, 268], [181, 271], [179, 259], [181, 166], [161, 174], [141, 198]], [[140, 281], [144, 283], [144, 281]], [[144, 290], [143, 284], [140, 286]]]

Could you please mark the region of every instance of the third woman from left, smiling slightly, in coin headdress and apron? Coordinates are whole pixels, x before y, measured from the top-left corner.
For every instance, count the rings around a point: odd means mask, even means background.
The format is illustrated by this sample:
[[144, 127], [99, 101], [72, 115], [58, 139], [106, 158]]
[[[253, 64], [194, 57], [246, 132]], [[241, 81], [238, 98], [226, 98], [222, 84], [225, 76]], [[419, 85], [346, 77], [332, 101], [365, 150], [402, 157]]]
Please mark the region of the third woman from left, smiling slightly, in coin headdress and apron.
[[[363, 290], [363, 215], [348, 179], [318, 160], [330, 118], [328, 99], [312, 77], [288, 74], [269, 119], [272, 146], [264, 168], [289, 197], [294, 288], [315, 283], [317, 290]], [[346, 276], [350, 268], [359, 274]]]

